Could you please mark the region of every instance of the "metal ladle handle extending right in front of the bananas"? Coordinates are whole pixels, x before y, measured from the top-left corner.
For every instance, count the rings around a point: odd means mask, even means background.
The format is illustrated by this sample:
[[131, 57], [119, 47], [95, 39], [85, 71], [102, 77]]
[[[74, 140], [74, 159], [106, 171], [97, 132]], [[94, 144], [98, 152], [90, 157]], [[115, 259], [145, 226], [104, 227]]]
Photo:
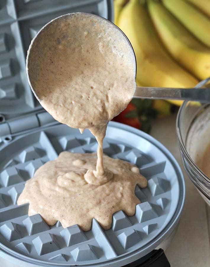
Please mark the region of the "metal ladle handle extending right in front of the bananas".
[[210, 102], [210, 88], [138, 87], [133, 98], [177, 99]]

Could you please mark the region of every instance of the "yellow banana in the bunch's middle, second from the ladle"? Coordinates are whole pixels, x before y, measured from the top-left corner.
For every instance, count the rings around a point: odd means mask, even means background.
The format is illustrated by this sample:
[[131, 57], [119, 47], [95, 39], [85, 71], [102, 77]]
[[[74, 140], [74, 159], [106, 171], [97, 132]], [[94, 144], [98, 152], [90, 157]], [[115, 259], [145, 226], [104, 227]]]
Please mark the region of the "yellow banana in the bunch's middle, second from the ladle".
[[148, 0], [148, 8], [169, 53], [199, 79], [210, 77], [210, 49], [191, 35], [160, 2]]

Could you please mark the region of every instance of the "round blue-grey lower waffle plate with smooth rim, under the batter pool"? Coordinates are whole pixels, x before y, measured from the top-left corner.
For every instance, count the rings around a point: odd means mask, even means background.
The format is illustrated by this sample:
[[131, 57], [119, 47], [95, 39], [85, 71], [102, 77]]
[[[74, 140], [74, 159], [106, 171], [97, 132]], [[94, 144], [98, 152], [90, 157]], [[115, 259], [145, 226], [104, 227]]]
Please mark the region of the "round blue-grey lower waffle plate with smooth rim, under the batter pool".
[[[0, 151], [0, 249], [40, 266], [123, 266], [146, 255], [177, 225], [184, 201], [184, 181], [170, 152], [151, 136], [119, 123], [109, 123], [104, 153], [135, 163], [148, 179], [136, 186], [141, 203], [134, 216], [113, 214], [104, 231], [93, 219], [90, 231], [77, 225], [48, 226], [39, 214], [28, 216], [28, 204], [17, 206], [25, 181], [61, 151], [95, 152], [92, 134], [56, 125], [17, 137]], [[0, 253], [1, 257], [5, 254]]]

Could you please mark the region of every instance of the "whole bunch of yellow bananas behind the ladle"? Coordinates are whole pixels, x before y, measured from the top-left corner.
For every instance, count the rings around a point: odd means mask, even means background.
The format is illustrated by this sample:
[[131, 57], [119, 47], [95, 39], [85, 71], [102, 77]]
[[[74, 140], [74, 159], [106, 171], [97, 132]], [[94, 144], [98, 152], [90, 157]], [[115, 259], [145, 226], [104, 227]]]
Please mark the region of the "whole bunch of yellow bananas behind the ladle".
[[210, 0], [114, 0], [114, 9], [135, 52], [138, 85], [192, 88], [210, 77]]

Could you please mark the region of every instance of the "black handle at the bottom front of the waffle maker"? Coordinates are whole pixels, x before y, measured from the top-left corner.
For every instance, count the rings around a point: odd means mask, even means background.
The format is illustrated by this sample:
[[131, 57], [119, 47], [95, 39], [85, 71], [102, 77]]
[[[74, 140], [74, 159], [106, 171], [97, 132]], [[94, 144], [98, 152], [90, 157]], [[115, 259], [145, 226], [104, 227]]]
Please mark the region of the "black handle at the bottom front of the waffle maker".
[[170, 267], [163, 249], [154, 249], [146, 256], [125, 265], [126, 267]]

